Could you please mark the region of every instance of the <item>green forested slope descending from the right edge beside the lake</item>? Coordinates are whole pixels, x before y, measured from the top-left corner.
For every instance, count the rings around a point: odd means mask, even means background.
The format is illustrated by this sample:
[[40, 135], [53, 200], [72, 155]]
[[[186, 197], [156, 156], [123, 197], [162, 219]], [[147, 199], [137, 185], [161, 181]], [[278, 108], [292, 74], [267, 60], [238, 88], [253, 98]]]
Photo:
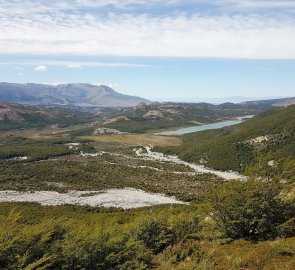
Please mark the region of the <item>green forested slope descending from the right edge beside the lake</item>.
[[239, 125], [185, 135], [164, 150], [221, 170], [295, 181], [295, 106], [273, 108]]

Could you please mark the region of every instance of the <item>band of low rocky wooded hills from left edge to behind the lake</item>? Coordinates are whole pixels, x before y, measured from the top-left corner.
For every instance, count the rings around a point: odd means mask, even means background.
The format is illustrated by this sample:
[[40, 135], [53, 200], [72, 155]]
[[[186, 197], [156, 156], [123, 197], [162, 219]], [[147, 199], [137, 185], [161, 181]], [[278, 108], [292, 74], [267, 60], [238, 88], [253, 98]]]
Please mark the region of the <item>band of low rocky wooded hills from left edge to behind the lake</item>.
[[95, 122], [92, 127], [82, 127], [81, 134], [91, 135], [96, 129], [116, 132], [141, 133], [159, 129], [213, 123], [238, 116], [257, 114], [259, 106], [242, 106], [232, 103], [151, 103], [130, 108], [77, 107], [25, 105], [0, 103], [0, 130], [67, 126]]

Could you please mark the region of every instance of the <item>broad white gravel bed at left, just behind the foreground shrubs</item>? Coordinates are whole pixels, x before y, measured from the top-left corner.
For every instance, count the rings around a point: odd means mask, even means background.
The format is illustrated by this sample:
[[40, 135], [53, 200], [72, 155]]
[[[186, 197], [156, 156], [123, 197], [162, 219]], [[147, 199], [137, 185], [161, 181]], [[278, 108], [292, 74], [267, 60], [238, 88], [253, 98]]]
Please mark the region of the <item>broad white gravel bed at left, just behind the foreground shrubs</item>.
[[159, 204], [184, 204], [174, 197], [151, 194], [134, 188], [107, 189], [102, 191], [0, 191], [0, 202], [36, 202], [41, 205], [90, 205], [121, 207], [124, 209]]

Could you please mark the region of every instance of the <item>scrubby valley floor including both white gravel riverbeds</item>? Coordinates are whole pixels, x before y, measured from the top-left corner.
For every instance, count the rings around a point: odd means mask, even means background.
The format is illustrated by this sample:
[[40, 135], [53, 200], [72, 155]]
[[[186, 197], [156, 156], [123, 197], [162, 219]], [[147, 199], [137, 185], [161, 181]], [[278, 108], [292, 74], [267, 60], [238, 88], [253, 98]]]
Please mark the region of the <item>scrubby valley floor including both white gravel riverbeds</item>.
[[[166, 137], [164, 142], [167, 139], [169, 140]], [[173, 198], [151, 193], [168, 192], [170, 196], [190, 200], [192, 194], [199, 192], [204, 179], [245, 178], [236, 172], [212, 170], [203, 165], [182, 161], [177, 156], [155, 152], [151, 146], [132, 148], [134, 145], [106, 147], [95, 144], [95, 148], [87, 153], [82, 151], [83, 144], [85, 143], [64, 143], [70, 155], [61, 157], [40, 157], [40, 160], [29, 162], [28, 155], [4, 161], [3, 175], [0, 176], [0, 201], [134, 208], [181, 203]], [[77, 154], [73, 155], [74, 153]], [[28, 170], [31, 171], [29, 174]], [[21, 178], [17, 177], [16, 171]], [[74, 180], [76, 177], [77, 181]], [[179, 190], [180, 186], [185, 188]], [[22, 191], [13, 191], [15, 187]], [[112, 189], [114, 187], [117, 189]]]

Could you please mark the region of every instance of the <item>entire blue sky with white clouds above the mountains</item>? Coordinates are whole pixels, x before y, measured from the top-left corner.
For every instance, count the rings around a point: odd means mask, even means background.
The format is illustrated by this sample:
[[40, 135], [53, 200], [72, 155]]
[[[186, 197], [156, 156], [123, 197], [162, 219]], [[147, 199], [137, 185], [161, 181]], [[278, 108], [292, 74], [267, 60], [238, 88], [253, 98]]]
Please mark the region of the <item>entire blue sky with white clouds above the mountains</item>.
[[295, 0], [0, 0], [0, 81], [295, 96]]

